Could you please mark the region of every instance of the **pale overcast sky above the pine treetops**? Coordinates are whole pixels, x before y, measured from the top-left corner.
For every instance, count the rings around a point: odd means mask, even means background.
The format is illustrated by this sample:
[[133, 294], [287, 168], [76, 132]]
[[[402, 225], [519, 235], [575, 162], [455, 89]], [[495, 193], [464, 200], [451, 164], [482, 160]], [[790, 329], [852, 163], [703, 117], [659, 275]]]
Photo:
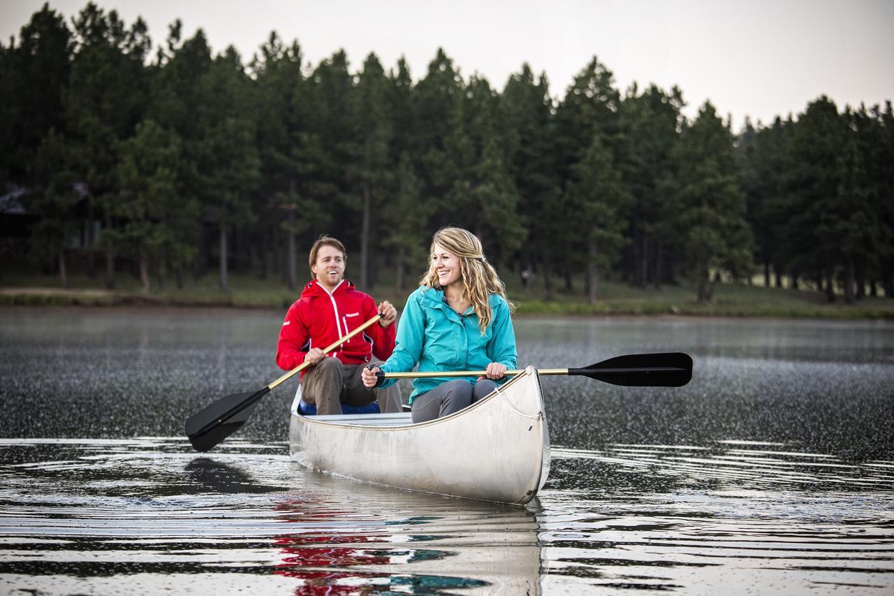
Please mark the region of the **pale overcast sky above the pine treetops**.
[[[45, 0], [3, 0], [0, 38], [9, 45]], [[86, 0], [55, 0], [71, 20]], [[750, 117], [772, 123], [826, 95], [844, 106], [894, 99], [891, 0], [97, 0], [129, 25], [148, 23], [154, 45], [183, 21], [184, 38], [205, 30], [215, 52], [236, 47], [248, 62], [272, 30], [298, 39], [311, 65], [344, 49], [358, 70], [375, 52], [386, 70], [404, 56], [415, 80], [438, 47], [463, 78], [477, 73], [502, 90], [523, 63], [565, 89], [595, 55], [618, 89], [677, 85], [693, 117], [710, 100], [738, 131]]]

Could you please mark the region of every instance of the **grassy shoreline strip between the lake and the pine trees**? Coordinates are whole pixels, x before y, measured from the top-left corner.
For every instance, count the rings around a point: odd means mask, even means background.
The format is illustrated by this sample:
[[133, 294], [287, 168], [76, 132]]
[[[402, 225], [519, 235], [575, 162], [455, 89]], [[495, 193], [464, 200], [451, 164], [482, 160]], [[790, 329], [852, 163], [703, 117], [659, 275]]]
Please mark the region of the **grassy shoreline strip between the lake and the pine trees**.
[[[388, 280], [385, 280], [388, 281]], [[696, 317], [760, 317], [782, 319], [885, 319], [894, 320], [894, 300], [868, 297], [855, 305], [846, 305], [839, 297], [826, 302], [816, 291], [768, 288], [756, 285], [720, 284], [714, 301], [699, 304], [693, 285], [667, 285], [661, 290], [634, 288], [619, 282], [603, 282], [599, 300], [586, 302], [583, 284], [577, 280], [570, 293], [556, 292], [552, 301], [545, 299], [542, 287], [527, 293], [514, 278], [507, 279], [510, 300], [522, 316], [627, 316], [667, 315]], [[512, 282], [517, 282], [513, 285]], [[143, 294], [132, 277], [115, 280], [116, 289], [105, 290], [102, 281], [73, 276], [70, 287], [58, 287], [55, 277], [35, 275], [4, 276], [0, 282], [2, 306], [136, 306], [186, 308], [240, 308], [284, 311], [299, 295], [278, 280], [233, 275], [230, 290], [217, 288], [214, 276], [190, 281], [184, 289], [169, 285]], [[397, 291], [393, 285], [380, 284], [371, 294], [376, 300], [388, 300], [402, 307], [411, 290]]]

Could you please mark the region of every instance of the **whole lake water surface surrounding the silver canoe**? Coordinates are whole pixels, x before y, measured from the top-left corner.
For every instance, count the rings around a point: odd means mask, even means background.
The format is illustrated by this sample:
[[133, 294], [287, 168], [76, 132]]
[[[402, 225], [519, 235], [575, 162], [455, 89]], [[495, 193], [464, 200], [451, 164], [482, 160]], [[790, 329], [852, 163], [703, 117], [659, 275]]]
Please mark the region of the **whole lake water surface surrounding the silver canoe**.
[[519, 319], [519, 365], [682, 351], [687, 387], [544, 378], [527, 507], [291, 463], [283, 313], [0, 310], [0, 593], [894, 593], [894, 325]]

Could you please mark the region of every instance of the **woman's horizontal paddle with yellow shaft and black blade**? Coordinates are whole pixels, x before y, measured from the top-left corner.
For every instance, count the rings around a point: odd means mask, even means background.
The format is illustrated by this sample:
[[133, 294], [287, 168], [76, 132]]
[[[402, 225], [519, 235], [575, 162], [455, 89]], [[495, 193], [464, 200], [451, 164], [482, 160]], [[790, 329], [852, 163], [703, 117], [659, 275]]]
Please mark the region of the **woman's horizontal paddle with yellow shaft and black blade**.
[[[507, 370], [518, 375], [524, 370]], [[384, 379], [422, 379], [444, 377], [484, 377], [485, 370], [451, 370], [438, 372], [383, 372], [378, 370], [376, 385]], [[582, 369], [538, 369], [539, 375], [571, 375], [589, 377], [625, 387], [682, 387], [692, 379], [692, 358], [687, 353], [632, 353], [616, 356]]]

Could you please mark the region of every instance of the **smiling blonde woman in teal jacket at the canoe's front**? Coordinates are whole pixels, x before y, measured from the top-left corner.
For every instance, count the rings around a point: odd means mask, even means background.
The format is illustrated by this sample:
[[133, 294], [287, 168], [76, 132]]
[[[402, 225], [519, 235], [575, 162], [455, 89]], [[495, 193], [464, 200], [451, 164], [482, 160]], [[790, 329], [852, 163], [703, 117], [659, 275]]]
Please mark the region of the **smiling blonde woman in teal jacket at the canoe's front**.
[[[409, 294], [397, 329], [397, 341], [384, 372], [486, 370], [478, 379], [416, 379], [409, 396], [414, 422], [425, 422], [477, 402], [516, 365], [514, 306], [481, 241], [458, 227], [434, 234], [431, 263], [419, 288]], [[366, 387], [375, 387], [375, 371], [363, 370]], [[386, 379], [379, 387], [389, 387]]]

